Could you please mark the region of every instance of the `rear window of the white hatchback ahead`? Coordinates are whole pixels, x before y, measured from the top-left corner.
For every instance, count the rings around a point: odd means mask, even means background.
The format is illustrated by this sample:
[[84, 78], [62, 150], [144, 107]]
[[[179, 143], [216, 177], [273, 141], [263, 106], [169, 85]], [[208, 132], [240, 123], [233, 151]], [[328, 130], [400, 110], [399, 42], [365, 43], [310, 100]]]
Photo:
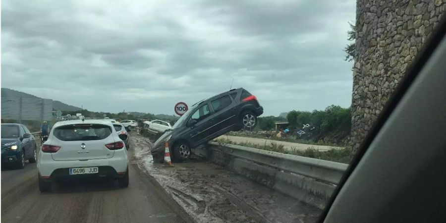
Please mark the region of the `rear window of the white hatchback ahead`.
[[111, 127], [102, 124], [64, 125], [54, 129], [53, 134], [62, 141], [102, 140], [111, 135]]

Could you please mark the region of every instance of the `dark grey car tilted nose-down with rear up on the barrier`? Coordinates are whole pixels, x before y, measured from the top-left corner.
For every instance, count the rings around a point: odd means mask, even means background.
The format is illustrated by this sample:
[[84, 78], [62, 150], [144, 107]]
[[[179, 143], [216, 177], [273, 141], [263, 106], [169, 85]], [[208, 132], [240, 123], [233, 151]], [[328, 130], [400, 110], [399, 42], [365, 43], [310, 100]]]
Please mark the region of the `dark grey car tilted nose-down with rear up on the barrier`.
[[162, 162], [167, 141], [172, 159], [176, 162], [185, 161], [191, 155], [191, 148], [229, 131], [253, 129], [257, 125], [257, 116], [262, 113], [263, 107], [257, 98], [243, 88], [202, 100], [186, 111], [172, 130], [155, 142], [152, 156], [155, 161]]

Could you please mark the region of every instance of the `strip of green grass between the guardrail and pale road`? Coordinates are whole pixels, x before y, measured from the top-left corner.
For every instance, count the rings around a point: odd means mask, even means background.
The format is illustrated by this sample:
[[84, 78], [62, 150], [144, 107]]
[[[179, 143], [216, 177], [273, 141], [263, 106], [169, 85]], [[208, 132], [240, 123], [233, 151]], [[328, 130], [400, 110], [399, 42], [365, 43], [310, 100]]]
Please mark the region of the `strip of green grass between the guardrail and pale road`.
[[270, 144], [267, 144], [265, 141], [264, 145], [258, 145], [258, 144], [252, 144], [249, 142], [244, 143], [234, 143], [229, 139], [225, 138], [219, 138], [217, 139], [217, 142], [220, 144], [232, 144], [232, 145], [239, 145], [239, 146], [246, 146], [261, 150], [267, 150], [267, 151], [273, 151], [278, 153], [284, 153], [284, 154], [291, 154], [301, 157], [309, 157], [319, 160], [327, 160], [327, 161], [333, 161], [337, 163], [343, 163], [343, 164], [349, 164], [350, 163], [350, 148], [343, 148], [343, 149], [330, 149], [330, 150], [318, 150], [314, 147], [309, 147], [306, 150], [298, 150], [295, 148], [292, 148], [291, 151], [285, 150], [283, 145], [278, 145], [277, 143], [271, 142]]

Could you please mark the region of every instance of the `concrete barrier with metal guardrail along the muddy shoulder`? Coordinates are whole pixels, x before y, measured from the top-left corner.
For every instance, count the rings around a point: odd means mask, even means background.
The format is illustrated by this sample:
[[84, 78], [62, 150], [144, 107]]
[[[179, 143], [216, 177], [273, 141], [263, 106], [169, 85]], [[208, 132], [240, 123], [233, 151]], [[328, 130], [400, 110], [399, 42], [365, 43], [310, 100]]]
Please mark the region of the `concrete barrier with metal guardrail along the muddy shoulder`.
[[194, 154], [323, 209], [346, 164], [209, 142]]

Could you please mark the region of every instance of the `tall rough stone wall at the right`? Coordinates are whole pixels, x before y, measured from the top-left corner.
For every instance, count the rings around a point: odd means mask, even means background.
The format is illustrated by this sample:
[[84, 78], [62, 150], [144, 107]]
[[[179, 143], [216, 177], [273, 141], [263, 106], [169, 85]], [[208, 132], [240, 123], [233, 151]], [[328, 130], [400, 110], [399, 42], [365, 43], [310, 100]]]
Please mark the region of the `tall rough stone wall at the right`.
[[445, 12], [446, 0], [357, 0], [353, 151]]

